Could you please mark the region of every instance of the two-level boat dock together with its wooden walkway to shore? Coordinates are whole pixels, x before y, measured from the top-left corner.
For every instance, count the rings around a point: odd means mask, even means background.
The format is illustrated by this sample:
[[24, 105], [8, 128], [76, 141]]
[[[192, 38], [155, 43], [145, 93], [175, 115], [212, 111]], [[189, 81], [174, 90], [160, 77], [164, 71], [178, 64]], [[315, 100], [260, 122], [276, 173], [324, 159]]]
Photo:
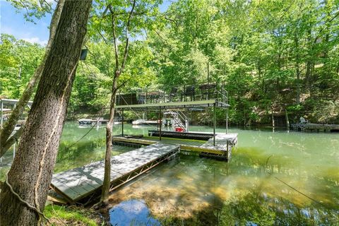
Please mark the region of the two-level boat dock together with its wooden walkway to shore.
[[[182, 153], [197, 153], [201, 157], [212, 157], [218, 160], [230, 160], [232, 149], [237, 146], [237, 133], [216, 133], [215, 109], [225, 109], [225, 121], [228, 125], [228, 97], [225, 85], [204, 84], [200, 89], [200, 96], [196, 95], [197, 88], [189, 85], [182, 91], [188, 96], [179, 97], [178, 88], [172, 88], [170, 93], [165, 90], [157, 93], [146, 90], [145, 96], [136, 93], [117, 95], [115, 108], [121, 111], [121, 136], [113, 137], [113, 144], [128, 145], [138, 148], [128, 153], [116, 155], [111, 159], [111, 187], [110, 191], [138, 177], [143, 172], [155, 167], [160, 162], [168, 160], [179, 150]], [[208, 90], [206, 90], [206, 88]], [[210, 90], [209, 90], [210, 88]], [[202, 91], [203, 90], [203, 91]], [[169, 90], [168, 90], [169, 91]], [[190, 93], [190, 94], [189, 94]], [[198, 94], [198, 90], [197, 90]], [[150, 95], [148, 98], [148, 95]], [[139, 97], [138, 97], [139, 96]], [[156, 97], [157, 96], [157, 97]], [[194, 109], [213, 108], [213, 133], [162, 131], [162, 112], [181, 109], [193, 111]], [[124, 110], [133, 112], [157, 112], [157, 131], [149, 131], [148, 136], [124, 135]], [[165, 114], [165, 113], [164, 113]], [[139, 119], [140, 120], [140, 119]], [[100, 119], [95, 121], [100, 122]], [[141, 121], [143, 121], [141, 119]], [[188, 131], [188, 120], [185, 117], [185, 131]], [[101, 119], [101, 122], [105, 122]], [[79, 124], [92, 124], [92, 119], [79, 119]], [[83, 167], [70, 169], [54, 174], [49, 193], [50, 200], [64, 203], [85, 203], [91, 197], [101, 193], [105, 172], [104, 161], [93, 162]]]

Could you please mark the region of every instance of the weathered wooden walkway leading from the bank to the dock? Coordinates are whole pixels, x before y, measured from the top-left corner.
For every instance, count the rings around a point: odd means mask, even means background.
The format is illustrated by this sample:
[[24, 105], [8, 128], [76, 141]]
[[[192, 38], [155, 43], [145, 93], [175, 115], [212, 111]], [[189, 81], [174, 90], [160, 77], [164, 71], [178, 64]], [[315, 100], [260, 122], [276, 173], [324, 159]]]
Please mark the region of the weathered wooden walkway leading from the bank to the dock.
[[[111, 158], [111, 191], [138, 177], [148, 169], [167, 160], [179, 151], [179, 145], [154, 143]], [[105, 162], [93, 162], [83, 167], [54, 174], [52, 189], [67, 203], [74, 203], [100, 191], [104, 179]]]

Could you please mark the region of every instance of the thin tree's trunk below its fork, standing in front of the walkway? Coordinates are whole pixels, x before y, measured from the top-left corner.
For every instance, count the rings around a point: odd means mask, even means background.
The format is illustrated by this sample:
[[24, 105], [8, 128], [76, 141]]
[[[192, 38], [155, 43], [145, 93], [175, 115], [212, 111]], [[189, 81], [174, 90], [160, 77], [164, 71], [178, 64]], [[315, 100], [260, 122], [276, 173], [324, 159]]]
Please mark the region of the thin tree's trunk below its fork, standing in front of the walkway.
[[111, 152], [112, 152], [112, 127], [114, 121], [114, 107], [115, 97], [117, 94], [117, 78], [114, 77], [112, 85], [112, 95], [109, 107], [109, 119], [106, 126], [106, 154], [105, 154], [105, 174], [104, 182], [102, 184], [101, 202], [104, 206], [108, 204], [109, 200], [109, 186], [111, 184]]

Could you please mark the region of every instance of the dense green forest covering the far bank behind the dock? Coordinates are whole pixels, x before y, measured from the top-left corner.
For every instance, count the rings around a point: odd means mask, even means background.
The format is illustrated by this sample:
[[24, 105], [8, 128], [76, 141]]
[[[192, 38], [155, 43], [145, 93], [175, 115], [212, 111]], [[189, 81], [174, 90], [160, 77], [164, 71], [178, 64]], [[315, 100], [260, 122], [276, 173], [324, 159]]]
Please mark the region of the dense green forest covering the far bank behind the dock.
[[[211, 81], [226, 84], [231, 124], [270, 124], [273, 112], [285, 111], [291, 121], [338, 123], [338, 1], [174, 1], [161, 13], [143, 7], [122, 93], [207, 81], [209, 71]], [[109, 100], [114, 52], [95, 32], [97, 20], [90, 19], [69, 117], [97, 114]], [[17, 99], [44, 47], [2, 34], [0, 48], [0, 95]]]

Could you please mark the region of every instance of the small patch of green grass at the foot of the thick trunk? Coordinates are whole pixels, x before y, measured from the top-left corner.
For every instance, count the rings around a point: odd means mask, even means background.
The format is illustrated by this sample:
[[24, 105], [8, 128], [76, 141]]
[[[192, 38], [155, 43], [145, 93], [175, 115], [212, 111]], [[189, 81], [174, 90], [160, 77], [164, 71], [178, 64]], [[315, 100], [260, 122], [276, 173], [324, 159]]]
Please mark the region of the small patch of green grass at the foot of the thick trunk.
[[88, 217], [88, 211], [85, 209], [80, 210], [78, 208], [69, 208], [66, 206], [49, 205], [44, 208], [44, 215], [49, 219], [53, 219], [52, 225], [59, 225], [54, 224], [54, 220], [60, 222], [67, 220], [67, 221], [80, 221], [83, 222], [83, 225], [97, 226], [97, 222]]

